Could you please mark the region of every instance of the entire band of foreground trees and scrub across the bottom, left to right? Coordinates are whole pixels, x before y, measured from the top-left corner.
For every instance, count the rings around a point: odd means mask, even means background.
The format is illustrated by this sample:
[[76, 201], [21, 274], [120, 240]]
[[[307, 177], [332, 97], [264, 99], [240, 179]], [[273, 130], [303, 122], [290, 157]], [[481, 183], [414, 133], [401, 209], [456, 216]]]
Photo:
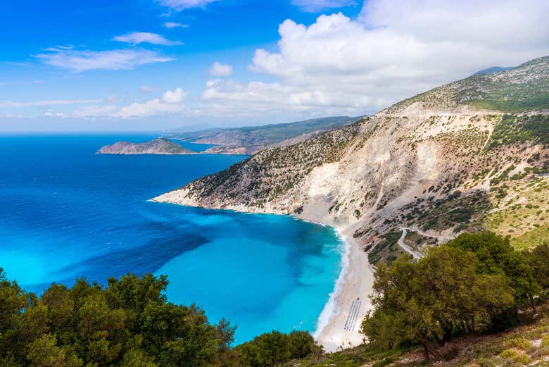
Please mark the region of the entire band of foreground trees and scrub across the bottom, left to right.
[[[400, 233], [386, 237], [394, 242]], [[300, 331], [272, 331], [232, 347], [234, 326], [212, 325], [196, 306], [168, 302], [166, 285], [153, 275], [109, 279], [106, 287], [81, 279], [72, 288], [53, 284], [37, 297], [0, 270], [0, 366], [384, 367], [418, 346], [424, 358], [452, 359], [450, 366], [525, 365], [549, 355], [547, 318], [476, 341], [457, 358], [454, 347], [443, 347], [547, 313], [539, 304], [549, 287], [549, 245], [520, 252], [491, 232], [460, 235], [419, 261], [403, 255], [391, 266], [379, 263], [374, 310], [361, 326], [370, 342], [334, 354]]]

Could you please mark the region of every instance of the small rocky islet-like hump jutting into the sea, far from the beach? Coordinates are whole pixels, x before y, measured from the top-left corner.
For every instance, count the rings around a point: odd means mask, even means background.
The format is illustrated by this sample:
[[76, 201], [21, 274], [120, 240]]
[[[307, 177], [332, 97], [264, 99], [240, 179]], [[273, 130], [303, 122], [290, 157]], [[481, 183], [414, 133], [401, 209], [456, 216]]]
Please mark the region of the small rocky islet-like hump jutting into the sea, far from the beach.
[[112, 145], [106, 145], [97, 151], [98, 154], [196, 154], [181, 145], [172, 142], [164, 137], [153, 139], [150, 142], [132, 143], [116, 142]]

